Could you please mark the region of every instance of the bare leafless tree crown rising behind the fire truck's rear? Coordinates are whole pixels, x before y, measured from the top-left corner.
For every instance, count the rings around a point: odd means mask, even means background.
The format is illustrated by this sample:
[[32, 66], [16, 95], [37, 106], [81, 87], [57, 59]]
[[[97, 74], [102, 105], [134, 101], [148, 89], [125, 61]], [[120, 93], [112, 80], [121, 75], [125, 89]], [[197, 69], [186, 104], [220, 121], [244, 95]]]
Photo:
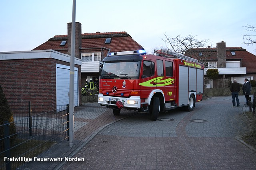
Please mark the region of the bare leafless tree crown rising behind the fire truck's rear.
[[[175, 53], [185, 54], [188, 57], [192, 57], [197, 59], [200, 63], [205, 63], [207, 57], [209, 57], [211, 51], [211, 44], [209, 39], [198, 40], [196, 36], [187, 35], [186, 37], [182, 37], [180, 35], [172, 38], [164, 33], [166, 39], [162, 39], [166, 43], [166, 49], [173, 51]], [[200, 49], [198, 49], [200, 48]], [[199, 54], [200, 53], [200, 54]]]

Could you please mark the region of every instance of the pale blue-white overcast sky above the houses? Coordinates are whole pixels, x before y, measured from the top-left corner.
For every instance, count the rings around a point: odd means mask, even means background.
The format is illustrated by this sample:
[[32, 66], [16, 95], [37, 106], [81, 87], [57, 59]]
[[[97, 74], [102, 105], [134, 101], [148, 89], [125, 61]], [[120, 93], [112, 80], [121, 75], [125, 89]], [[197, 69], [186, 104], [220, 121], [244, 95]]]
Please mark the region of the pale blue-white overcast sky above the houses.
[[[72, 2], [1, 0], [0, 52], [29, 51], [66, 35]], [[76, 22], [82, 33], [126, 31], [148, 53], [165, 46], [166, 33], [210, 39], [212, 47], [224, 41], [256, 55], [256, 45], [242, 44], [243, 26], [256, 26], [255, 9], [256, 0], [76, 0]]]

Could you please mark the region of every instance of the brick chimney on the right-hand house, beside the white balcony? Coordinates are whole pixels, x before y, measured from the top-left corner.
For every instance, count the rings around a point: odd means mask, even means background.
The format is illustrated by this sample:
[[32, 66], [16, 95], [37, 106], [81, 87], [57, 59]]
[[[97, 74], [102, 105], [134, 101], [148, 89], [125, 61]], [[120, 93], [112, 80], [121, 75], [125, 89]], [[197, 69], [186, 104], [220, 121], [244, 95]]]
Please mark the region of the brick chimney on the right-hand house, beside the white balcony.
[[217, 67], [226, 68], [226, 43], [217, 43]]

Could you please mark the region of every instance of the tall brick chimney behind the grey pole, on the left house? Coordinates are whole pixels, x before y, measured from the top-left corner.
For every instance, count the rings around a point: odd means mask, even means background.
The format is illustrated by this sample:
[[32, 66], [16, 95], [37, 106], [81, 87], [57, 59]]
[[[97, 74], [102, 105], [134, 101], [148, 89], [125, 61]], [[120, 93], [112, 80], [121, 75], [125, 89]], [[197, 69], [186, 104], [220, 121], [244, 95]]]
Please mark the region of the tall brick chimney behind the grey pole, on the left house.
[[[76, 33], [75, 33], [75, 57], [81, 59], [80, 48], [82, 47], [82, 29], [81, 23], [76, 22]], [[72, 23], [68, 23], [68, 55], [71, 53], [71, 28]]]

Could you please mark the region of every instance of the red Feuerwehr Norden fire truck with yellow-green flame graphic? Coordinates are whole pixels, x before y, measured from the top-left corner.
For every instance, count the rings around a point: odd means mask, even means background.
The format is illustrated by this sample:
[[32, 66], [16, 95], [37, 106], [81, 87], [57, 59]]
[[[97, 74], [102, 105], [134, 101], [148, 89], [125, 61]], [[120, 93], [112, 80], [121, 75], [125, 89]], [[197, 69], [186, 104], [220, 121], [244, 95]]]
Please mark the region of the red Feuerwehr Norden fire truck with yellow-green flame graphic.
[[150, 113], [183, 107], [192, 111], [202, 100], [204, 65], [196, 59], [166, 50], [110, 53], [100, 64], [98, 103], [113, 109]]

